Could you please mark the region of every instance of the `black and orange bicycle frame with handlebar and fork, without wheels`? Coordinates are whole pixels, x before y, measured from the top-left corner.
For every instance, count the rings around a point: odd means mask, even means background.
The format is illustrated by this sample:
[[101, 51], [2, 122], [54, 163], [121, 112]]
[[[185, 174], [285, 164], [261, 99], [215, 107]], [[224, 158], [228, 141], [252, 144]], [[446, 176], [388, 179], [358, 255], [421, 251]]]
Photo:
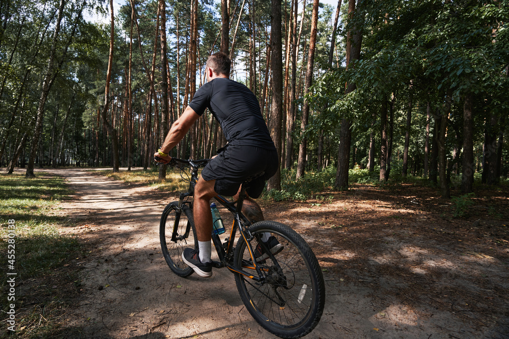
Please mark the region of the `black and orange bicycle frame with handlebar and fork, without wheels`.
[[[182, 160], [176, 159], [176, 158], [173, 158], [173, 159], [176, 161], [188, 164], [191, 167], [191, 178], [190, 178], [190, 183], [189, 183], [189, 189], [187, 192], [183, 192], [180, 194], [178, 209], [180, 210], [185, 203], [189, 204], [189, 207], [192, 207], [192, 202], [184, 201], [184, 200], [188, 197], [194, 196], [194, 186], [196, 185], [196, 182], [198, 181], [198, 169], [200, 167], [200, 164], [198, 162], [194, 163], [191, 160], [182, 161]], [[253, 251], [251, 243], [250, 243], [253, 236], [251, 235], [249, 230], [246, 229], [246, 226], [250, 225], [251, 222], [244, 216], [244, 214], [242, 214], [242, 205], [243, 205], [244, 199], [246, 197], [246, 185], [245, 184], [246, 184], [246, 182], [242, 183], [241, 190], [239, 193], [239, 199], [236, 202], [229, 201], [228, 199], [224, 198], [221, 195], [218, 195], [215, 197], [217, 202], [219, 202], [221, 205], [223, 205], [225, 208], [227, 208], [234, 215], [234, 222], [232, 225], [232, 229], [230, 231], [230, 237], [227, 238], [227, 241], [225, 242], [226, 250], [224, 249], [224, 245], [221, 243], [221, 239], [219, 238], [219, 235], [212, 234], [212, 241], [214, 243], [214, 247], [216, 249], [217, 255], [219, 256], [219, 261], [212, 261], [212, 266], [215, 268], [227, 267], [232, 272], [242, 274], [249, 279], [252, 279], [259, 283], [263, 283], [265, 281], [265, 275], [264, 275], [263, 271], [260, 269], [256, 260], [254, 260], [254, 251]], [[175, 221], [175, 227], [174, 227], [174, 230], [172, 233], [172, 241], [184, 239], [189, 236], [189, 232], [191, 230], [191, 225], [187, 224], [186, 233], [184, 235], [177, 237], [177, 225], [179, 224], [179, 221], [180, 221], [180, 218], [177, 218], [177, 220]], [[241, 237], [244, 238], [244, 240], [246, 242], [246, 246], [249, 251], [249, 254], [251, 256], [251, 263], [254, 267], [249, 267], [249, 268], [256, 269], [258, 276], [253, 276], [251, 273], [248, 273], [240, 268], [236, 268], [231, 264], [231, 262], [233, 261], [233, 254], [234, 254], [233, 244], [235, 242], [235, 236], [237, 234], [237, 230], [239, 230]], [[262, 243], [262, 242], [259, 241], [259, 243]], [[267, 249], [265, 249], [265, 250], [267, 250]], [[270, 251], [268, 251], [268, 253], [270, 253]], [[272, 257], [271, 254], [269, 254], [269, 256]]]

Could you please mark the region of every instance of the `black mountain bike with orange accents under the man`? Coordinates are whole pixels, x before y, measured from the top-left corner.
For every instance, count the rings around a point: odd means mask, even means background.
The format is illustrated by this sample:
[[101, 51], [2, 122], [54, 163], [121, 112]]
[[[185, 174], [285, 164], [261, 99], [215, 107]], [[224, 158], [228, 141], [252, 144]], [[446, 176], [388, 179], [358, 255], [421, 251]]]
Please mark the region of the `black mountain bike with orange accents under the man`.
[[[180, 194], [179, 201], [164, 208], [159, 236], [166, 263], [183, 277], [194, 272], [182, 260], [182, 252], [187, 247], [198, 248], [192, 197], [199, 168], [209, 161], [172, 158], [168, 164], [180, 168], [181, 178], [189, 183], [189, 189]], [[212, 267], [227, 267], [235, 274], [246, 309], [262, 327], [280, 337], [301, 337], [315, 328], [323, 313], [325, 283], [320, 265], [309, 245], [290, 227], [273, 221], [250, 221], [242, 214], [247, 186], [248, 181], [242, 184], [236, 202], [222, 196], [215, 198], [234, 215], [234, 222], [230, 236], [223, 243], [217, 234], [212, 234], [219, 257], [219, 261], [212, 262]], [[234, 246], [237, 230], [240, 236]], [[277, 238], [282, 245], [280, 252], [271, 253], [260, 240], [265, 232]], [[254, 258], [257, 246], [263, 255]]]

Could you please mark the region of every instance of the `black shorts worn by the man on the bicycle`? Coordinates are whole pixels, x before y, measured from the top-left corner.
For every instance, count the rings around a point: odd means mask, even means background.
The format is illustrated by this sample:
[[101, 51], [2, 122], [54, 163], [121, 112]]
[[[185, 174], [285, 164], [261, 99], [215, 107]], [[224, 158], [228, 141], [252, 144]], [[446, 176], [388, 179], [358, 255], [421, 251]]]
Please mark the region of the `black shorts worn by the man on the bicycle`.
[[217, 157], [204, 167], [201, 175], [207, 181], [216, 180], [214, 191], [224, 196], [234, 196], [242, 182], [264, 172], [250, 181], [246, 190], [251, 198], [258, 198], [265, 187], [265, 181], [276, 173], [279, 165], [275, 149], [228, 144], [217, 152]]

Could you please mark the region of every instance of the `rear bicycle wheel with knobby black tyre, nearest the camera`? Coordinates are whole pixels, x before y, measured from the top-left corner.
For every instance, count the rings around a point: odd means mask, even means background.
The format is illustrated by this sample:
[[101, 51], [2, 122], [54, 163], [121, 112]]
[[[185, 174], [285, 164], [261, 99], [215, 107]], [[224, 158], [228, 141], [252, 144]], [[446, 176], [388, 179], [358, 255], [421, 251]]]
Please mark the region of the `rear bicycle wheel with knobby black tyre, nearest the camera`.
[[[325, 304], [325, 283], [318, 260], [300, 235], [290, 227], [261, 221], [253, 224], [249, 231], [253, 251], [265, 252], [258, 265], [265, 274], [260, 284], [240, 273], [235, 274], [237, 289], [246, 309], [254, 319], [269, 332], [284, 338], [297, 338], [312, 331], [322, 317]], [[270, 233], [277, 245], [275, 254], [269, 254], [257, 245], [263, 233]], [[269, 243], [274, 243], [270, 239]], [[276, 242], [277, 243], [277, 242]], [[280, 251], [280, 252], [279, 252]], [[237, 243], [234, 264], [252, 276], [258, 276], [245, 240]]]

